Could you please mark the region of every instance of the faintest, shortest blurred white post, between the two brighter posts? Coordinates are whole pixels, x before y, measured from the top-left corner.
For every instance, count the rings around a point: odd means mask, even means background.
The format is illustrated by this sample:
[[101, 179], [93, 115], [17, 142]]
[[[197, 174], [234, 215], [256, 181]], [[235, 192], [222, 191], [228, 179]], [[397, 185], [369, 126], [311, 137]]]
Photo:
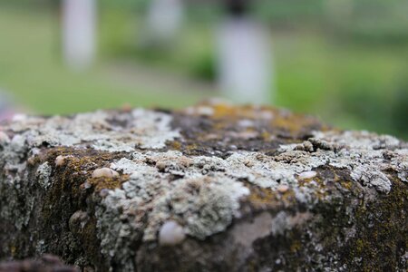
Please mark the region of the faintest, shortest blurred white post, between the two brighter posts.
[[183, 19], [181, 0], [151, 0], [147, 16], [149, 38], [153, 43], [169, 43], [178, 34]]

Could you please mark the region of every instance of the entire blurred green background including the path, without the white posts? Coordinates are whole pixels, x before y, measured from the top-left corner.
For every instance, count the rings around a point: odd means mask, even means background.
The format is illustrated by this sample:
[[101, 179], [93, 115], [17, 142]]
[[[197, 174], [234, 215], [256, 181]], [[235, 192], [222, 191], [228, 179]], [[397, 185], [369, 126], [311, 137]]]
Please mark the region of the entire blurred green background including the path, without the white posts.
[[[0, 90], [40, 114], [219, 96], [213, 35], [222, 11], [204, 3], [187, 5], [176, 43], [163, 49], [141, 46], [149, 1], [100, 1], [98, 57], [77, 73], [60, 57], [58, 1], [0, 0]], [[270, 34], [276, 73], [265, 103], [408, 139], [407, 14], [403, 0], [258, 1], [252, 16]]]

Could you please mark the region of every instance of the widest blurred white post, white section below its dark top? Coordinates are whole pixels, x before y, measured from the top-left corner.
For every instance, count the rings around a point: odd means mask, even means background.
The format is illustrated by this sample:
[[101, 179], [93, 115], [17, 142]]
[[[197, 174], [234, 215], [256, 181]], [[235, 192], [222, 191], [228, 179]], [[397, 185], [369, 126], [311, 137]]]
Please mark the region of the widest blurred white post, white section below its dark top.
[[272, 102], [273, 71], [269, 36], [246, 15], [229, 16], [217, 34], [219, 87], [229, 100]]

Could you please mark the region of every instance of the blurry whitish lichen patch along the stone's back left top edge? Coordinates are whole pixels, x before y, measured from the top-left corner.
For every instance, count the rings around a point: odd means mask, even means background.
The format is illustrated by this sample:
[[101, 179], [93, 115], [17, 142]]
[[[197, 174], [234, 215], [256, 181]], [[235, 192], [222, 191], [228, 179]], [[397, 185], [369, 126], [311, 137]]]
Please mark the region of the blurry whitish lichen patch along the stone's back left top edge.
[[161, 149], [166, 141], [179, 137], [179, 131], [170, 128], [171, 120], [170, 114], [142, 109], [126, 113], [98, 111], [73, 117], [26, 117], [12, 122], [7, 129], [18, 133], [29, 146], [46, 142], [49, 146], [130, 152], [135, 148]]

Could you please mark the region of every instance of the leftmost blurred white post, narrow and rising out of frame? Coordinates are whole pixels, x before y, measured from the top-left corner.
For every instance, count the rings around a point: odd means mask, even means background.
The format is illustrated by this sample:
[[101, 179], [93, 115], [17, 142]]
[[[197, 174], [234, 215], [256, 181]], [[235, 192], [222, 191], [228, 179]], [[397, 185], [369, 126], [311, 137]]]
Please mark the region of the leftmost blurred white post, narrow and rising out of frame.
[[88, 68], [95, 56], [96, 0], [63, 0], [63, 58], [73, 70]]

